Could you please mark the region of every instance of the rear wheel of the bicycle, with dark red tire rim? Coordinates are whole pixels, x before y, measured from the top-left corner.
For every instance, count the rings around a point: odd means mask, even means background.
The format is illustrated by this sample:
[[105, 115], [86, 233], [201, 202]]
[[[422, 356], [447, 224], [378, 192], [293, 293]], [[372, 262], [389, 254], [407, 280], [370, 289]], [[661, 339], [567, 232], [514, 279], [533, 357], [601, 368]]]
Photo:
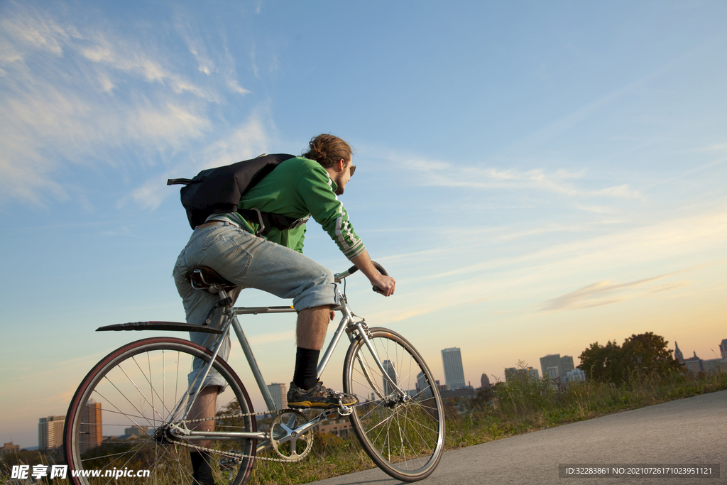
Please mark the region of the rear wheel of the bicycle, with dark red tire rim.
[[[116, 482], [113, 477], [105, 476], [112, 468], [113, 473], [125, 469], [149, 470], [148, 477], [126, 476], [124, 481], [129, 484], [192, 483], [190, 448], [159, 441], [155, 432], [174, 421], [172, 413], [177, 404], [188, 402], [188, 372], [193, 360], [200, 358], [209, 362], [211, 357], [209, 350], [188, 340], [153, 337], [124, 345], [96, 364], [81, 381], [65, 417], [63, 444], [71, 483]], [[214, 414], [252, 412], [244, 385], [227, 362], [218, 357], [213, 369], [227, 384], [217, 395]], [[252, 418], [216, 420], [215, 430], [255, 431]], [[101, 425], [97, 424], [99, 421]], [[137, 438], [134, 432], [138, 433]], [[118, 438], [120, 434], [131, 436]], [[218, 440], [206, 447], [254, 456], [255, 441]], [[211, 454], [216, 483], [244, 485], [254, 459], [244, 458], [230, 465], [225, 464], [226, 459], [224, 455]], [[93, 470], [101, 470], [99, 478], [74, 476], [92, 474]]]

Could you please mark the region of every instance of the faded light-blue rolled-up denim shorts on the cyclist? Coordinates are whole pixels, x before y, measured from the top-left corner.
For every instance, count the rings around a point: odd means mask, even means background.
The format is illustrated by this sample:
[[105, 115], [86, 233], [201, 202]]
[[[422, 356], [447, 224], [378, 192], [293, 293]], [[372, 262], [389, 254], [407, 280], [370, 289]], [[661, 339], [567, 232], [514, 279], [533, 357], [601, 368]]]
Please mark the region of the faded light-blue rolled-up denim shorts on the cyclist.
[[[236, 298], [243, 288], [262, 289], [281, 298], [292, 298], [293, 307], [305, 310], [324, 305], [338, 305], [338, 292], [333, 273], [300, 252], [263, 239], [230, 223], [197, 228], [174, 265], [174, 283], [182, 297], [187, 321], [201, 324], [215, 302], [216, 294], [193, 289], [186, 275], [195, 266], [207, 266], [226, 280], [237, 284], [231, 295]], [[219, 325], [222, 309], [212, 318]], [[212, 348], [216, 334], [190, 332], [190, 340], [205, 348]], [[225, 337], [219, 355], [225, 360], [230, 354], [230, 337]], [[197, 360], [197, 359], [195, 359]], [[201, 362], [193, 364], [190, 382]], [[210, 371], [204, 383], [224, 385], [222, 379]]]

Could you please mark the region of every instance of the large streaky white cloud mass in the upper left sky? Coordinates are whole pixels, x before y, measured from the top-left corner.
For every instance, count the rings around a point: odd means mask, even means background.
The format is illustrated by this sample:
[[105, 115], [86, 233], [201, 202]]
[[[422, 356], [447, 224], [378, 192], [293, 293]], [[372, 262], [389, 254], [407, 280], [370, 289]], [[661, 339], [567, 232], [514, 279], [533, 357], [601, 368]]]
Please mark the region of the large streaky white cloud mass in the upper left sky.
[[[142, 45], [93, 12], [92, 21], [79, 23], [63, 9], [8, 2], [3, 14], [0, 202], [68, 199], [54, 173], [69, 162], [148, 164], [160, 153], [186, 150], [211, 132], [209, 109], [224, 102], [225, 92], [247, 92], [226, 47], [218, 73], [192, 28], [179, 32], [207, 75], [197, 79], [169, 63], [163, 43]], [[134, 161], [121, 159], [119, 147], [137, 153]]]

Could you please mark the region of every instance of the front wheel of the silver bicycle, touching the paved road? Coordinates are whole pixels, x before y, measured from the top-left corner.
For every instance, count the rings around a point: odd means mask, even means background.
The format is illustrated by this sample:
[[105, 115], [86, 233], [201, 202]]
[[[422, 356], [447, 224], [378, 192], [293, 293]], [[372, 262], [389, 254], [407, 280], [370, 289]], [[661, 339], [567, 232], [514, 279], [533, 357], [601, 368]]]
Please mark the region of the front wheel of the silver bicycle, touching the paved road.
[[366, 454], [385, 473], [401, 481], [421, 480], [434, 471], [444, 446], [439, 390], [406, 339], [388, 329], [370, 332], [369, 342], [390, 380], [361, 337], [351, 342], [343, 367], [343, 389], [359, 403], [351, 425]]

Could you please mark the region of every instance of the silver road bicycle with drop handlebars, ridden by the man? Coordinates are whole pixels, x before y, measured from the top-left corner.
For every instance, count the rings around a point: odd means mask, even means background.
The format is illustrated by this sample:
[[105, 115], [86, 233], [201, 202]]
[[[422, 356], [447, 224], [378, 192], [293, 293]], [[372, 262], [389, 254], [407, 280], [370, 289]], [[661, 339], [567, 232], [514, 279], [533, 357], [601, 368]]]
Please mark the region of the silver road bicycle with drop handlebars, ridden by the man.
[[[314, 428], [339, 416], [348, 416], [366, 454], [385, 473], [401, 481], [429, 476], [444, 445], [441, 396], [424, 359], [407, 340], [389, 329], [369, 328], [350, 310], [345, 278], [356, 270], [353, 266], [335, 276], [338, 283], [343, 282], [341, 303], [334, 308], [342, 319], [318, 364], [318, 375], [345, 333], [350, 344], [343, 365], [343, 390], [358, 396], [358, 404], [308, 411], [313, 414], [310, 419], [297, 409], [277, 409], [237, 316], [295, 310], [289, 306], [233, 307], [228, 292], [234, 285], [209, 268], [195, 268], [190, 272], [193, 286], [220, 297], [203, 325], [147, 321], [103, 326], [97, 332], [206, 332], [217, 335], [214, 346], [206, 350], [188, 340], [151, 337], [113, 350], [96, 364], [81, 381], [65, 419], [63, 443], [69, 478], [77, 485], [100, 483], [100, 478], [82, 475], [113, 467], [115, 471], [149, 470], [150, 476], [142, 478], [145, 483], [190, 484], [189, 452], [197, 449], [212, 457], [216, 483], [242, 485], [254, 460], [302, 460], [310, 452]], [[217, 326], [211, 324], [216, 308], [224, 308]], [[265, 412], [253, 411], [243, 383], [217, 356], [230, 330], [235, 332], [268, 406]], [[201, 370], [192, 372], [193, 365]], [[193, 402], [212, 369], [225, 381], [216, 409], [207, 413], [211, 415], [192, 416]], [[260, 420], [263, 416], [272, 421]], [[210, 421], [214, 422], [212, 429], [198, 429]], [[103, 438], [104, 433], [121, 430], [129, 438]], [[272, 453], [260, 456], [262, 452]]]

